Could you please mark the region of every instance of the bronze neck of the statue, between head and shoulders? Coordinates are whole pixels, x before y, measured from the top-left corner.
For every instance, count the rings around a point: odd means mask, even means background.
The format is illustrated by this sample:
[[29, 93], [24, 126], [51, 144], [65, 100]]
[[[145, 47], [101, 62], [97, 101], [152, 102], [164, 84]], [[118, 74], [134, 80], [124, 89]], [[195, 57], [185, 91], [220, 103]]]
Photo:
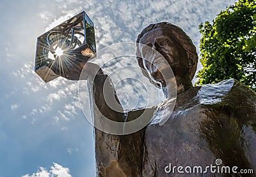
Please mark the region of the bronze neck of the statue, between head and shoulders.
[[[174, 78], [173, 78], [174, 79]], [[176, 85], [174, 85], [174, 81], [170, 79], [170, 81], [166, 82], [165, 87], [162, 87], [162, 90], [164, 92], [164, 97], [166, 99], [175, 97], [175, 95], [180, 94], [181, 92], [184, 92], [185, 90], [188, 90], [189, 88], [193, 87], [192, 82], [188, 75], [185, 76], [175, 76]], [[176, 87], [176, 91], [173, 91], [173, 88]]]

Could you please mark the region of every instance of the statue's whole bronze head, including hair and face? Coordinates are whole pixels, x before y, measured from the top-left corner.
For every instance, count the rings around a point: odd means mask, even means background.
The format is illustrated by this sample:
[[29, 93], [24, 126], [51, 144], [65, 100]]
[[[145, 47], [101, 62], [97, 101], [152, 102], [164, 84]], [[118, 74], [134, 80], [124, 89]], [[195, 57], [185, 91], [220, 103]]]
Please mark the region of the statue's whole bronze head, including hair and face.
[[[180, 27], [168, 22], [150, 24], [138, 35], [136, 43], [138, 45], [147, 45], [161, 53], [172, 67], [175, 78], [176, 76], [180, 76], [180, 78], [188, 76], [190, 81], [193, 79], [198, 55], [195, 45]], [[136, 46], [136, 52], [142, 53], [142, 49], [138, 45]], [[160, 67], [164, 67], [161, 66], [161, 61], [154, 62], [157, 59], [152, 59], [152, 62], [148, 62], [148, 60], [144, 60], [141, 57], [137, 57], [137, 59], [143, 74], [149, 78], [151, 83], [159, 87], [160, 85], [156, 80], [161, 80], [161, 73], [158, 71]]]

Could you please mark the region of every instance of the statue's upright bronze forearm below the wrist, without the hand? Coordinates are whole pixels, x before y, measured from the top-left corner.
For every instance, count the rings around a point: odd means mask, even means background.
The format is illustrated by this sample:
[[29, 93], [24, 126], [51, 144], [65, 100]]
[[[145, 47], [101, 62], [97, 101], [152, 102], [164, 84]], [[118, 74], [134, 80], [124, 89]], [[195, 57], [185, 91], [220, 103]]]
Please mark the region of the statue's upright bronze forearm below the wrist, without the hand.
[[[90, 104], [95, 124], [95, 157], [99, 176], [124, 176], [118, 166], [120, 136], [109, 134], [111, 124], [104, 120], [123, 122], [124, 110], [108, 75], [97, 74], [88, 79]], [[109, 125], [108, 125], [109, 124]]]

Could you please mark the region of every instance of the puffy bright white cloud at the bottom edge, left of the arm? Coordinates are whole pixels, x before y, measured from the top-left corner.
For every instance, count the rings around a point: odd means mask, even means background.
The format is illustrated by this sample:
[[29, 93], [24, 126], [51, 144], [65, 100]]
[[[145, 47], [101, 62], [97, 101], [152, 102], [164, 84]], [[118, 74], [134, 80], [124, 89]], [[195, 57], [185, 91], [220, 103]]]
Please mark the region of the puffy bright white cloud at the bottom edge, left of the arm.
[[60, 164], [53, 163], [51, 169], [47, 171], [44, 167], [39, 167], [38, 171], [33, 174], [25, 174], [22, 177], [72, 177], [68, 167], [63, 167]]

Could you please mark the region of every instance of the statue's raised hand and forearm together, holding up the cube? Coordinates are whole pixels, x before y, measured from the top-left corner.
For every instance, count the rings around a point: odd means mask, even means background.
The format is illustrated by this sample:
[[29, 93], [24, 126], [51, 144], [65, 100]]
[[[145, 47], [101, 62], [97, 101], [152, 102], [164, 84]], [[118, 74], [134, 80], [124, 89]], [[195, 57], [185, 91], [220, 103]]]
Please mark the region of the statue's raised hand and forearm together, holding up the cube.
[[[61, 68], [58, 60], [49, 60], [49, 67], [54, 73], [68, 80], [88, 81], [91, 111], [96, 127], [107, 126], [105, 118], [115, 122], [123, 122], [124, 110], [118, 101], [115, 88], [108, 75], [104, 74], [97, 64], [87, 63], [83, 60], [70, 58], [72, 66]], [[83, 76], [80, 77], [83, 70]], [[95, 73], [97, 73], [95, 75]], [[111, 107], [110, 107], [111, 106]], [[115, 107], [115, 108], [113, 108]], [[111, 126], [111, 125], [109, 125]], [[109, 127], [111, 128], [111, 127]], [[99, 176], [125, 176], [118, 167], [118, 148], [120, 136], [108, 134], [95, 128], [95, 156]], [[113, 175], [112, 175], [113, 174]]]

